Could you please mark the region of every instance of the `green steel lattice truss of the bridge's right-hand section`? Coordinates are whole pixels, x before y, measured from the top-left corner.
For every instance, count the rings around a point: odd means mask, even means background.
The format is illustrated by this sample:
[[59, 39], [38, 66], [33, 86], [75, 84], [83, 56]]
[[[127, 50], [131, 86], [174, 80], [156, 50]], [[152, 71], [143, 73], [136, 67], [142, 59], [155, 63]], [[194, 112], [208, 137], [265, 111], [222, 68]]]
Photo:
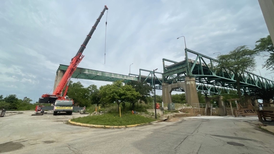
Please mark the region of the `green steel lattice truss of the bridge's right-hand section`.
[[[189, 53], [196, 55], [195, 60], [188, 58]], [[213, 65], [219, 63], [216, 59], [189, 49], [185, 49], [185, 59], [187, 61], [181, 62], [163, 59], [164, 82], [180, 82], [188, 76], [196, 79], [197, 90], [202, 91], [204, 95], [221, 95], [236, 90], [235, 74], [228, 70], [214, 69]], [[166, 62], [173, 64], [165, 65]], [[239, 76], [242, 94], [250, 93], [257, 88], [274, 87], [273, 81], [251, 72], [245, 71]]]

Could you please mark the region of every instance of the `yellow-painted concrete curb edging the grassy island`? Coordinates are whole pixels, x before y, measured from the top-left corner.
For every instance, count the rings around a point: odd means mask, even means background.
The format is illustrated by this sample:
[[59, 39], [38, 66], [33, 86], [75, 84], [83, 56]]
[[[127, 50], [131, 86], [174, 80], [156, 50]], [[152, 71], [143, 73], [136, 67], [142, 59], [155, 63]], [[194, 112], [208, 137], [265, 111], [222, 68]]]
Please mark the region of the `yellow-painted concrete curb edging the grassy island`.
[[69, 119], [68, 122], [71, 124], [74, 124], [74, 125], [78, 125], [78, 126], [97, 127], [97, 128], [129, 128], [129, 127], [136, 127], [136, 126], [145, 125], [145, 124], [153, 124], [153, 123], [161, 122], [161, 121], [165, 121], [165, 120], [167, 120], [167, 118], [157, 120], [157, 121], [148, 122], [148, 123], [127, 125], [127, 126], [104, 126], [104, 125], [83, 124], [83, 123], [79, 123], [79, 122], [73, 122], [73, 121], [71, 121], [71, 119]]

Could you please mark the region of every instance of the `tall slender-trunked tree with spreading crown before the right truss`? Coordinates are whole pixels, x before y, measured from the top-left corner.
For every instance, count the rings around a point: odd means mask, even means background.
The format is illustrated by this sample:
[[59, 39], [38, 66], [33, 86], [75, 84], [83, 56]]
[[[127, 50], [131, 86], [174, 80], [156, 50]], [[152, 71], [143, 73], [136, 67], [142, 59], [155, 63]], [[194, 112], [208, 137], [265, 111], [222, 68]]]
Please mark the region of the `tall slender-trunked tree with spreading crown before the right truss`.
[[248, 49], [246, 45], [236, 47], [235, 50], [230, 51], [226, 55], [218, 55], [219, 61], [217, 68], [219, 70], [228, 70], [235, 75], [236, 89], [240, 103], [243, 105], [241, 97], [240, 79], [244, 71], [252, 71], [256, 67], [255, 62], [256, 51]]

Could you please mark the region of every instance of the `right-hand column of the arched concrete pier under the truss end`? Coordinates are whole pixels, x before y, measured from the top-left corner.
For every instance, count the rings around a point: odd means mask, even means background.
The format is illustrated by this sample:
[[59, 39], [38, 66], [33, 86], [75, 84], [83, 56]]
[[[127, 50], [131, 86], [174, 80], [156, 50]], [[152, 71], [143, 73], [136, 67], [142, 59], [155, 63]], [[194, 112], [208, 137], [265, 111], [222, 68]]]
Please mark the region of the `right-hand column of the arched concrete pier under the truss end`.
[[190, 77], [185, 78], [184, 90], [185, 90], [185, 99], [187, 104], [191, 106], [193, 106], [192, 104], [195, 104], [195, 103], [199, 104], [195, 78], [190, 78]]

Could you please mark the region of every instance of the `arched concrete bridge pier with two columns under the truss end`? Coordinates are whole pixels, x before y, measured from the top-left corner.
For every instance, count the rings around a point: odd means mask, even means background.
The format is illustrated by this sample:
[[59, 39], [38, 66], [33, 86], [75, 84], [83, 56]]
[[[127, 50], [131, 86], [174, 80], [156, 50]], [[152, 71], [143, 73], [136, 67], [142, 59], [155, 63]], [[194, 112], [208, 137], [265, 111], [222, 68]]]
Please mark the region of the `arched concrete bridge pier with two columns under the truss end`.
[[174, 84], [162, 83], [162, 99], [164, 103], [172, 103], [171, 92], [175, 88], [184, 89], [187, 104], [191, 106], [195, 103], [199, 104], [195, 78], [186, 77], [184, 82]]

